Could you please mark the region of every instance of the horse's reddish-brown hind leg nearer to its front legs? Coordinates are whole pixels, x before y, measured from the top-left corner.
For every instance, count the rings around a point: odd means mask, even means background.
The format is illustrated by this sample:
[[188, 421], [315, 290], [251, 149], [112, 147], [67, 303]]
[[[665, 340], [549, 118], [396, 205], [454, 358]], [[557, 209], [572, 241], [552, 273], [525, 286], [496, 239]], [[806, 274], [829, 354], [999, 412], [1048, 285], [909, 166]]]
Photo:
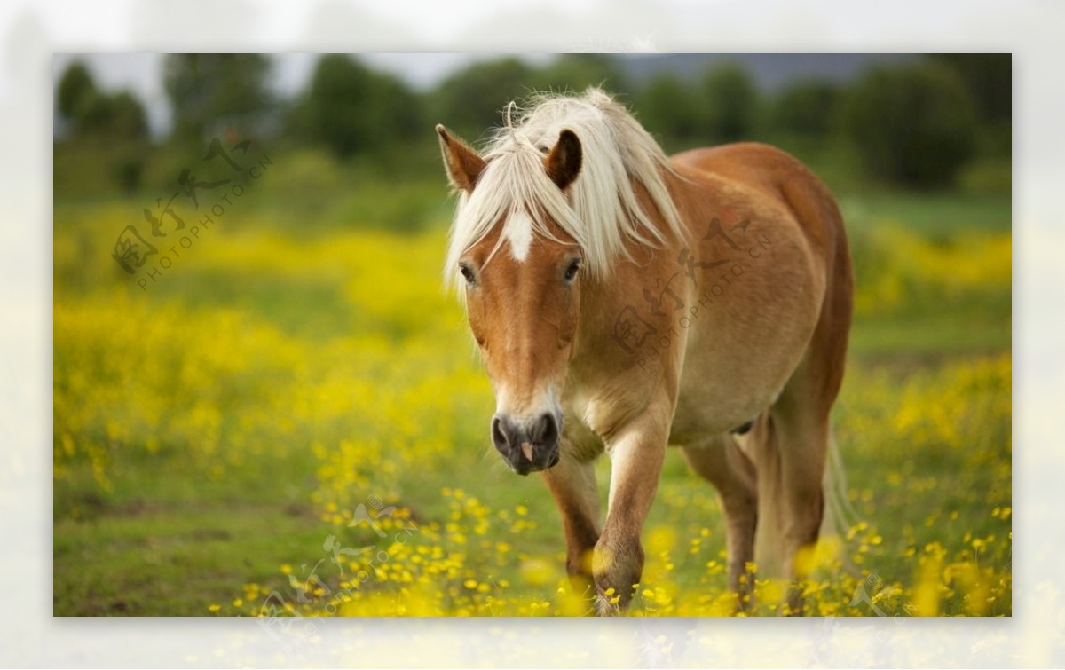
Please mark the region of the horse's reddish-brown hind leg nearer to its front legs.
[[750, 577], [746, 566], [754, 560], [754, 533], [758, 521], [758, 495], [754, 464], [732, 435], [715, 436], [684, 447], [688, 465], [714, 485], [724, 511], [728, 543], [728, 586], [738, 594], [739, 606], [750, 601]]

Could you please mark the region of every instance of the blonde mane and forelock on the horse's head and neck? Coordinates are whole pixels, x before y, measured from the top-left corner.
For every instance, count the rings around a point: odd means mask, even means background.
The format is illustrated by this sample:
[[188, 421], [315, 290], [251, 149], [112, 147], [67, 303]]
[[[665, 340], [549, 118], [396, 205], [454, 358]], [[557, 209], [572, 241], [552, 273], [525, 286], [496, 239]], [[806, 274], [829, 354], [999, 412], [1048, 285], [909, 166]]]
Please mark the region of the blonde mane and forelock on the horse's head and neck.
[[[665, 181], [672, 173], [669, 160], [609, 95], [589, 88], [579, 97], [541, 96], [519, 113], [518, 126], [512, 111], [511, 103], [506, 126], [482, 152], [487, 166], [473, 193], [459, 195], [444, 269], [449, 283], [456, 280], [459, 259], [501, 220], [504, 229], [492, 255], [506, 239], [542, 235], [560, 242], [547, 226], [554, 220], [580, 246], [588, 271], [606, 276], [619, 257], [627, 257], [626, 242], [653, 247], [666, 242], [655, 213], [640, 206], [634, 183], [646, 191], [666, 231], [681, 236], [681, 217]], [[564, 192], [543, 165], [563, 129], [576, 133], [584, 157], [580, 173]]]

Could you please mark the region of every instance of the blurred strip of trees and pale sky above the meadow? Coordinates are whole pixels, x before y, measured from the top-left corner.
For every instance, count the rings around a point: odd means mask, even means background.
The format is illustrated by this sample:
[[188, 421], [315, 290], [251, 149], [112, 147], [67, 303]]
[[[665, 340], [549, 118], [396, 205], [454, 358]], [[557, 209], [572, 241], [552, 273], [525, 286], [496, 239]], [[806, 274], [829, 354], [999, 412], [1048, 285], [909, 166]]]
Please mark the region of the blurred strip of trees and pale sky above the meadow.
[[837, 191], [1003, 194], [1011, 68], [1009, 54], [63, 54], [55, 193], [168, 186], [175, 165], [224, 129], [291, 153], [295, 193], [310, 195], [316, 170], [375, 178], [382, 160], [402, 164], [406, 183], [435, 179], [435, 124], [476, 141], [509, 100], [594, 84], [668, 151], [756, 140]]

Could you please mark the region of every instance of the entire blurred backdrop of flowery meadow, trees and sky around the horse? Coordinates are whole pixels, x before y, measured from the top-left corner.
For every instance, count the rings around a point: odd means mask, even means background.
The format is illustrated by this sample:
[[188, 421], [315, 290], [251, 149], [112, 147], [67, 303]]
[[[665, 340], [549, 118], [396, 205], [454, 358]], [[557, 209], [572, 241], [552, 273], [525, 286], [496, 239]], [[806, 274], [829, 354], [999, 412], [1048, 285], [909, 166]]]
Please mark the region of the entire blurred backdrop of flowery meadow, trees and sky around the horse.
[[[760, 141], [825, 181], [857, 279], [848, 556], [900, 610], [1010, 614], [1010, 54], [64, 54], [52, 73], [55, 614], [261, 614], [278, 591], [318, 612], [293, 579], [313, 591], [327, 538], [375, 541], [349, 526], [371, 497], [442, 555], [390, 548], [407, 576], [344, 614], [555, 614], [532, 604], [561, 578], [557, 512], [491, 453], [441, 288], [432, 127], [476, 145], [511, 99], [588, 85], [668, 152]], [[717, 502], [675, 456], [649, 523], [666, 586], [639, 607], [721, 614]], [[852, 587], [821, 614], [871, 615]]]

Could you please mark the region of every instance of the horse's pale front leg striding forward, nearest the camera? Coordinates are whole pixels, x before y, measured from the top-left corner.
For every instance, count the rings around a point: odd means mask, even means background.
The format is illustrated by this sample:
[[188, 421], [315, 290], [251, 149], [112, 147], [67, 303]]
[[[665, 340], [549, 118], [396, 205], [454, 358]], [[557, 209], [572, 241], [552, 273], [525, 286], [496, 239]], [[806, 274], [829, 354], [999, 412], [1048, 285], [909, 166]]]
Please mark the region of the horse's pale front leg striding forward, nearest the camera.
[[640, 582], [640, 530], [658, 487], [668, 425], [657, 412], [648, 411], [607, 443], [611, 461], [609, 510], [592, 561], [601, 615], [627, 607], [633, 587]]

